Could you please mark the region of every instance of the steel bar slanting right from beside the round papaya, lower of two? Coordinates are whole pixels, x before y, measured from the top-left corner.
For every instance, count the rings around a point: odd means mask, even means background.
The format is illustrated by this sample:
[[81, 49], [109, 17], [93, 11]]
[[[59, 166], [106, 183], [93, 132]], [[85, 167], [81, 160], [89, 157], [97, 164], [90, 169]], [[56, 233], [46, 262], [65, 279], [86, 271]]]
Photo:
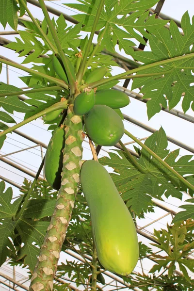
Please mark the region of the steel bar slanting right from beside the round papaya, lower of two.
[[[134, 119], [132, 117], [129, 117], [126, 114], [123, 114], [123, 116], [124, 116], [124, 119], [125, 120], [128, 120], [129, 122], [131, 122], [131, 123], [133, 123], [133, 124], [141, 127], [142, 129], [146, 129], [147, 131], [152, 132], [152, 133], [155, 132], [155, 131], [157, 131], [157, 129], [153, 129], [150, 126], [148, 126], [148, 125], [146, 125], [146, 124], [144, 124], [144, 123], [142, 123], [142, 122], [140, 122], [140, 121], [138, 121], [138, 120], [136, 120], [136, 119]], [[167, 140], [169, 142], [173, 143], [174, 145], [180, 146], [180, 147], [182, 147], [182, 148], [184, 148], [184, 149], [186, 149], [186, 150], [188, 150], [188, 151], [190, 151], [191, 153], [194, 154], [194, 148], [193, 147], [187, 146], [187, 145], [179, 142], [178, 140], [174, 139], [171, 136], [166, 135], [166, 137], [167, 137]]]

